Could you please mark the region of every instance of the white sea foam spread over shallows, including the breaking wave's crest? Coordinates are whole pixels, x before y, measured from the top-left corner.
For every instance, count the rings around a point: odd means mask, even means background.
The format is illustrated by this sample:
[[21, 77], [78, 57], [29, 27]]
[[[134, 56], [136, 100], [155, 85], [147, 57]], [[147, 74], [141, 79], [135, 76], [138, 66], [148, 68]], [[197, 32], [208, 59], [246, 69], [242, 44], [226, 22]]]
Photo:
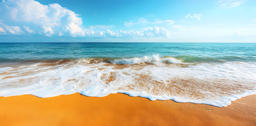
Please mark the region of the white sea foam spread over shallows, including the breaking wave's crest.
[[[153, 56], [120, 59], [115, 63], [156, 64], [163, 61], [179, 62], [171, 57]], [[45, 98], [79, 92], [85, 96], [103, 97], [120, 92], [150, 100], [172, 99], [225, 107], [233, 100], [256, 93], [255, 62], [121, 69], [106, 62], [77, 63], [0, 68], [0, 96], [31, 94]]]

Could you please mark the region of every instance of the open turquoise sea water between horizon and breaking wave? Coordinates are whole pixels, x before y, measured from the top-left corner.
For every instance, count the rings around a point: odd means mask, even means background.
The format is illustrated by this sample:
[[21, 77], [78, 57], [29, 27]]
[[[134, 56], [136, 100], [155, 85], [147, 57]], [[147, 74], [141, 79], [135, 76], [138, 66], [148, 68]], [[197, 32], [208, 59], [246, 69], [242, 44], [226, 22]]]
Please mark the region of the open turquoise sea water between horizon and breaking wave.
[[158, 54], [197, 61], [255, 61], [254, 43], [1, 43], [0, 59], [132, 58]]

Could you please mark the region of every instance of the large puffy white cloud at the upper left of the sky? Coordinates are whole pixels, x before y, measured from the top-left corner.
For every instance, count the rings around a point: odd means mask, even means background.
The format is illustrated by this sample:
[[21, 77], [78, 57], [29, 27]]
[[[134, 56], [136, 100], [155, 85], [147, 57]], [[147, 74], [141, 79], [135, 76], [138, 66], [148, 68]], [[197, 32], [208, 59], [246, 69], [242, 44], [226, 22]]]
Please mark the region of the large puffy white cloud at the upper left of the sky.
[[46, 36], [60, 33], [71, 36], [83, 35], [82, 19], [78, 14], [59, 4], [42, 5], [33, 0], [10, 0], [0, 4], [0, 17], [8, 15], [7, 18], [14, 22], [29, 23], [30, 25], [26, 27], [30, 30], [24, 28], [29, 33], [36, 30]]

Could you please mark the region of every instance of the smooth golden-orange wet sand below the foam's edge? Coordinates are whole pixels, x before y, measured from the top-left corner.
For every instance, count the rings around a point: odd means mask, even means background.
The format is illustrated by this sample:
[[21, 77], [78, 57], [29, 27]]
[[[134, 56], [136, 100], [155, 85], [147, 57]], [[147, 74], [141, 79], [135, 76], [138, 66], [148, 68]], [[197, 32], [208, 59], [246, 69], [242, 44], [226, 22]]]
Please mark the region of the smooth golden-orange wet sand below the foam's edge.
[[1, 125], [256, 125], [256, 95], [227, 107], [149, 101], [121, 93], [0, 97]]

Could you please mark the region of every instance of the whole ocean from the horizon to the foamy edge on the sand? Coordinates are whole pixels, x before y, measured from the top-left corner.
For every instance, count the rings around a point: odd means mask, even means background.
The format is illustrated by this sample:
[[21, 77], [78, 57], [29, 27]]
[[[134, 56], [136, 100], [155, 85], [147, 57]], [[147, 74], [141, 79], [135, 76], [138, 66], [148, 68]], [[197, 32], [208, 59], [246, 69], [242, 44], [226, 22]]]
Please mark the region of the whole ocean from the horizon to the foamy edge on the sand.
[[256, 93], [256, 44], [0, 43], [0, 96], [75, 92], [225, 107]]

